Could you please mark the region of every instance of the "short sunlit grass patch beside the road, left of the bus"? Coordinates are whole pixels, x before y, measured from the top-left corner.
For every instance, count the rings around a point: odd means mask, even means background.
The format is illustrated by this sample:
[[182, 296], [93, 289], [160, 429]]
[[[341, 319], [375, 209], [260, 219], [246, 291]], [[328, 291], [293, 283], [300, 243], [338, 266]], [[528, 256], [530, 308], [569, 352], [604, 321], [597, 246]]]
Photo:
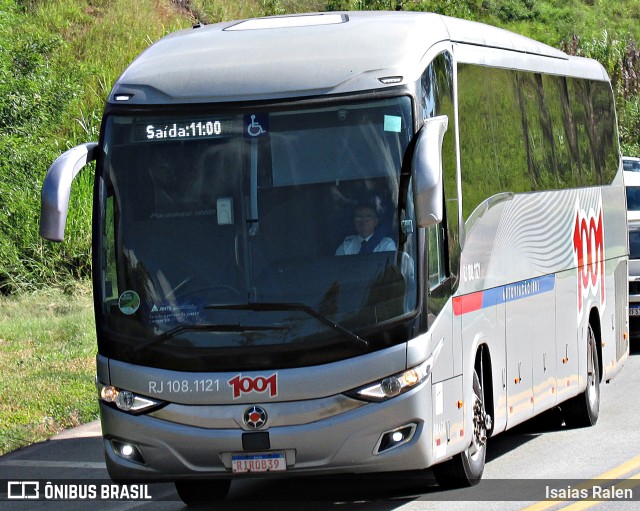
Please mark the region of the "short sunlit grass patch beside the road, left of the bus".
[[89, 283], [0, 298], [0, 454], [98, 417]]

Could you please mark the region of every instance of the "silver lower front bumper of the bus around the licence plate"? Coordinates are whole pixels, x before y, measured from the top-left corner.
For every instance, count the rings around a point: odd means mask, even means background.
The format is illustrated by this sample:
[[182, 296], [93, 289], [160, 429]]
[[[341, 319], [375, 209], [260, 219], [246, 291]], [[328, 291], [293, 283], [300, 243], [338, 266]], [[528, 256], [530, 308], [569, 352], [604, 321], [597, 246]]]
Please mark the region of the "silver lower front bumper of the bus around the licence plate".
[[[133, 416], [101, 403], [109, 475], [114, 480], [208, 479], [264, 475], [328, 475], [423, 469], [433, 463], [431, 385], [384, 403], [303, 425], [260, 431], [212, 429]], [[198, 408], [198, 407], [194, 407]], [[401, 435], [393, 436], [400, 432]], [[268, 434], [268, 437], [266, 436]], [[394, 443], [393, 438], [400, 438]], [[243, 443], [244, 442], [244, 443]], [[278, 472], [236, 473], [240, 455], [284, 455]], [[284, 464], [280, 470], [284, 469]]]

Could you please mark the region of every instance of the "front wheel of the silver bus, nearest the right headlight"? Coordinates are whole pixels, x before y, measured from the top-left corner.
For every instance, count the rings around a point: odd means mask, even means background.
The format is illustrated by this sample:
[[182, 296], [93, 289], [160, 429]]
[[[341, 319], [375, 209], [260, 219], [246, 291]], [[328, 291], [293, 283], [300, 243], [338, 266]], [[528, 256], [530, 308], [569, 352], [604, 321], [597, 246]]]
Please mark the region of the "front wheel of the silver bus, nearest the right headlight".
[[471, 445], [449, 461], [434, 465], [433, 473], [444, 488], [473, 486], [480, 482], [487, 453], [487, 431], [491, 417], [487, 415], [480, 378], [473, 372], [473, 438]]

